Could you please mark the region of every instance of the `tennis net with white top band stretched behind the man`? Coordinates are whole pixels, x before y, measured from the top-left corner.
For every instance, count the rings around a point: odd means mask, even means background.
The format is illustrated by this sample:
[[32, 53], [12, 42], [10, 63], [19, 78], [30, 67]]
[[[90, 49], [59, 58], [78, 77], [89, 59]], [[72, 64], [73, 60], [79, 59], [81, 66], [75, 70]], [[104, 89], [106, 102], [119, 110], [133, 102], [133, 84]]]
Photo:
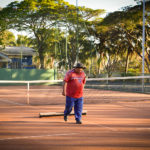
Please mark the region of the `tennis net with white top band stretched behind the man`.
[[[1, 80], [0, 104], [65, 104], [65, 97], [62, 96], [62, 82], [62, 80]], [[85, 103], [107, 102], [113, 99], [112, 95], [116, 99], [118, 95], [127, 95], [125, 92], [128, 92], [128, 95], [129, 93], [150, 93], [150, 76], [89, 78], [84, 89], [84, 99]], [[119, 99], [121, 100], [121, 97]], [[126, 97], [126, 100], [130, 101], [130, 98]]]

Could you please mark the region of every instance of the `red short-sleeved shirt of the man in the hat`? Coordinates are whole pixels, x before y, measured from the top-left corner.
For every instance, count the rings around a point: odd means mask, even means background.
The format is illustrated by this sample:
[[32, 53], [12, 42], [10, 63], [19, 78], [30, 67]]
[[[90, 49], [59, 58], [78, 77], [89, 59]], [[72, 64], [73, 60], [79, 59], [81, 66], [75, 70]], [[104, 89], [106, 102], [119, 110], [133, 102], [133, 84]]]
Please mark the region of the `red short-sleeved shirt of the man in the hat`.
[[76, 73], [74, 69], [68, 71], [64, 78], [67, 82], [66, 96], [73, 98], [83, 97], [83, 88], [86, 82], [84, 71]]

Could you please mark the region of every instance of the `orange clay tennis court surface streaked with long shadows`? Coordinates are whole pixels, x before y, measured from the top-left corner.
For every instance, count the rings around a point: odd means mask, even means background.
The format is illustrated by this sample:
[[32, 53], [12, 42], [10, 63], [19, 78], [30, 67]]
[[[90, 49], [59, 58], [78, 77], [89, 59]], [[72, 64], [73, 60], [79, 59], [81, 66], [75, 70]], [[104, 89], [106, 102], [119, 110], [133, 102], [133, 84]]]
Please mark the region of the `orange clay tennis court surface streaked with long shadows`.
[[83, 124], [63, 112], [61, 87], [0, 87], [0, 150], [149, 150], [150, 95], [85, 89]]

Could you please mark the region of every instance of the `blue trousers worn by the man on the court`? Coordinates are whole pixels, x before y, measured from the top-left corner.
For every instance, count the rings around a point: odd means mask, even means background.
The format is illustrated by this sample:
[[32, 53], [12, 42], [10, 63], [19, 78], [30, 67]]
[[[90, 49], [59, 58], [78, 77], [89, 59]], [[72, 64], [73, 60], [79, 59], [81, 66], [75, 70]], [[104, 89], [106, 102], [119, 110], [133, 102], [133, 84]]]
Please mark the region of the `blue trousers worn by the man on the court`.
[[66, 96], [66, 106], [65, 106], [64, 116], [67, 116], [71, 113], [73, 106], [74, 106], [75, 119], [80, 121], [82, 118], [83, 97], [72, 98]]

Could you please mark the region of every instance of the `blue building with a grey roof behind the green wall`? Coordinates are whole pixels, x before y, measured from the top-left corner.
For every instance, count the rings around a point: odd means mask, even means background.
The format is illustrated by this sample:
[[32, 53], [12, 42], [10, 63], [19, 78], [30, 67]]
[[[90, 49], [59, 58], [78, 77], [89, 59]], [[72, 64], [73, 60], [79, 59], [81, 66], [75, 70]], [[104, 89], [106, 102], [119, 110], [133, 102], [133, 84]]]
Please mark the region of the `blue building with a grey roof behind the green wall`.
[[5, 47], [0, 51], [0, 67], [12, 69], [32, 69], [36, 51], [29, 47]]

